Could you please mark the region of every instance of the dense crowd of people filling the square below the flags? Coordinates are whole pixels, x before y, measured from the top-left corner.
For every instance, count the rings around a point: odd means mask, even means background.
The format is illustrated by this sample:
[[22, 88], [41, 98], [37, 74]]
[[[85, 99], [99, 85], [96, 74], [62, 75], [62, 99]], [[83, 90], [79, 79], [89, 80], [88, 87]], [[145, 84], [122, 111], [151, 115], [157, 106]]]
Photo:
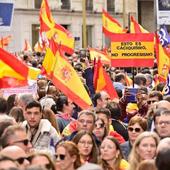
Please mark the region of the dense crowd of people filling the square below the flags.
[[[44, 75], [37, 93], [0, 97], [0, 170], [169, 170], [170, 95], [155, 68], [105, 65], [118, 98], [95, 92], [87, 51], [67, 56], [93, 106], [82, 110]], [[43, 56], [23, 56], [41, 68]], [[136, 93], [130, 89], [137, 89]]]

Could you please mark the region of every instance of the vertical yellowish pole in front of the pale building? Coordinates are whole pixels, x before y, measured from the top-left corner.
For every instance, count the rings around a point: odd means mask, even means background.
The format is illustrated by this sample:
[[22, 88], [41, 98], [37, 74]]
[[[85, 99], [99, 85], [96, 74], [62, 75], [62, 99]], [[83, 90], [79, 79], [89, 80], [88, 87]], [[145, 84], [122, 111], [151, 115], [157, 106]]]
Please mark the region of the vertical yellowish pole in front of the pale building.
[[83, 48], [87, 48], [86, 39], [86, 0], [82, 0], [82, 17], [83, 17]]

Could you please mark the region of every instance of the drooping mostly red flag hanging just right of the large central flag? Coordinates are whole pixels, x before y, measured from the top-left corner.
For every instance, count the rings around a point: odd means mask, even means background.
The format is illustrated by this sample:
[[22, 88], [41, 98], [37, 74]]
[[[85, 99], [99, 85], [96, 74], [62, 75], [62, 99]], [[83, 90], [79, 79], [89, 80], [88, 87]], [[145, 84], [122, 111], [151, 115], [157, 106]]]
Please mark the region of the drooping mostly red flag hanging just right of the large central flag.
[[104, 70], [100, 59], [94, 66], [93, 83], [94, 83], [94, 88], [96, 92], [100, 92], [104, 90], [110, 95], [111, 99], [118, 98], [118, 95], [113, 86], [113, 83], [109, 75]]

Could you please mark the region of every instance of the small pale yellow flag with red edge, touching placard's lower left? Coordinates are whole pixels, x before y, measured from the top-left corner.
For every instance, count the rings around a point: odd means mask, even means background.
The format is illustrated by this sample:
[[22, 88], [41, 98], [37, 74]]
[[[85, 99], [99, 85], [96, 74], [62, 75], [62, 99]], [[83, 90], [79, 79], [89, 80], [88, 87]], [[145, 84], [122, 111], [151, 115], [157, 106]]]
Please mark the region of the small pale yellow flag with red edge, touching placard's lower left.
[[95, 59], [101, 59], [102, 63], [110, 64], [110, 57], [104, 51], [100, 51], [98, 49], [89, 48], [90, 51], [90, 59], [94, 61]]

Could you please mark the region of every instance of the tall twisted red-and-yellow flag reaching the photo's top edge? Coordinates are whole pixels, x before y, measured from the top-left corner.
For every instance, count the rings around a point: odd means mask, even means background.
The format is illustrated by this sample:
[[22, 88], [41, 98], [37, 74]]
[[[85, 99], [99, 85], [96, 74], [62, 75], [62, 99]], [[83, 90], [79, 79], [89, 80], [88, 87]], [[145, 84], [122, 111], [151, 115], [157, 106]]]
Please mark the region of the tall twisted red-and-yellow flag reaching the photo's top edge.
[[55, 42], [61, 45], [61, 50], [69, 54], [74, 52], [74, 38], [63, 26], [55, 23], [47, 0], [42, 1], [40, 9], [40, 34], [42, 37], [43, 33], [48, 40], [55, 37]]

